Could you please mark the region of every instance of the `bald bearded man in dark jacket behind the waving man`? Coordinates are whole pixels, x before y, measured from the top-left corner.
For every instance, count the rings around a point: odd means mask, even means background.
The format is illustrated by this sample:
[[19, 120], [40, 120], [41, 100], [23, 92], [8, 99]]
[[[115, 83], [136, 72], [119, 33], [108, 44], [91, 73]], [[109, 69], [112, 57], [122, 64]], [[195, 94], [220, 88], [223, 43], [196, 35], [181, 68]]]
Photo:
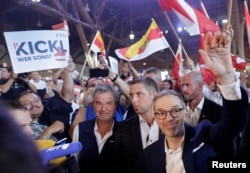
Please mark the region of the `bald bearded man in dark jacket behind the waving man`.
[[[182, 77], [181, 91], [187, 104], [186, 122], [196, 126], [204, 119], [217, 123], [221, 119], [222, 106], [203, 95], [203, 78], [200, 72], [192, 71]], [[192, 118], [196, 117], [195, 121]], [[239, 138], [239, 136], [237, 137]], [[229, 142], [220, 152], [222, 158], [233, 158], [237, 154], [237, 138]]]

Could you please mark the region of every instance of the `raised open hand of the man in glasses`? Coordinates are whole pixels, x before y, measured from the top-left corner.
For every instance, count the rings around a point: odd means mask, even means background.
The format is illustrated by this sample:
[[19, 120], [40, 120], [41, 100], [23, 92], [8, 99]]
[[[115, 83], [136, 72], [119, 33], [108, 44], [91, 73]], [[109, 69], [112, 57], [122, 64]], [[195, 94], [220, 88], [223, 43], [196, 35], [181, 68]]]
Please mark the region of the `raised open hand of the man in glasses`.
[[230, 84], [235, 81], [231, 60], [232, 37], [231, 26], [226, 26], [223, 31], [218, 31], [214, 35], [208, 32], [205, 35], [205, 50], [199, 50], [206, 65], [221, 84]]

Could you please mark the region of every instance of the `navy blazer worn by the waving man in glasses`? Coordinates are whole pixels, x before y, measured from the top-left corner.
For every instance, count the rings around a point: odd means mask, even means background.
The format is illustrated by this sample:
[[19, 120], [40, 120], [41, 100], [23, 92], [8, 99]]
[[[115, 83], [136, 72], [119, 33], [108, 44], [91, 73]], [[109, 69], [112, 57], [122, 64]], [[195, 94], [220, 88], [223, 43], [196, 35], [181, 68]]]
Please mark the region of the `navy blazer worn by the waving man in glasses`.
[[[225, 143], [239, 134], [246, 124], [247, 102], [246, 92], [242, 99], [230, 101], [223, 99], [221, 121], [213, 124], [203, 120], [195, 128], [185, 125], [185, 139], [182, 161], [186, 173], [208, 172], [208, 158], [215, 157]], [[165, 137], [144, 150], [145, 166], [148, 173], [165, 173]]]

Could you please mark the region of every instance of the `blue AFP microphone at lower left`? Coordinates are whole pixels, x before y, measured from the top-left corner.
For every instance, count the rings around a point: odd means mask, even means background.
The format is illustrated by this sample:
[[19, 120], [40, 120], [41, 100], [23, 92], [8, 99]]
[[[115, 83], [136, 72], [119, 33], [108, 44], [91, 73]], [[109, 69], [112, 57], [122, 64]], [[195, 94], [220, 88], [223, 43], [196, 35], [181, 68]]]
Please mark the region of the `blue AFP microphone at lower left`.
[[80, 142], [72, 142], [43, 149], [40, 151], [40, 155], [42, 157], [43, 164], [48, 164], [50, 160], [78, 153], [81, 150], [82, 144]]

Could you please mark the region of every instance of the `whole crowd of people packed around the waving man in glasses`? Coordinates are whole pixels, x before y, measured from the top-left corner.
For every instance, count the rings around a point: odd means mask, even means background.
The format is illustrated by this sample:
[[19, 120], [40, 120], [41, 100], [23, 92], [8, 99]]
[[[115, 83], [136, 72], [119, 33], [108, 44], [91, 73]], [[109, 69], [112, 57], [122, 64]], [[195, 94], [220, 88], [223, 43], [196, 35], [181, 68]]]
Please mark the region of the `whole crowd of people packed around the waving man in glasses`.
[[[199, 71], [174, 81], [162, 79], [157, 67], [139, 74], [130, 62], [121, 61], [118, 74], [101, 64], [98, 68], [108, 69], [108, 76], [90, 77], [76, 102], [72, 59], [53, 77], [58, 88], [48, 87], [39, 72], [17, 75], [1, 65], [0, 118], [9, 121], [5, 128], [12, 123], [19, 126], [17, 131], [22, 129], [16, 134], [25, 136], [20, 146], [30, 149], [26, 156], [9, 154], [30, 157], [24, 172], [41, 167], [32, 140], [65, 138], [68, 143], [82, 143], [82, 150], [74, 153], [81, 173], [199, 173], [208, 172], [209, 158], [249, 160], [250, 92], [246, 76], [237, 76], [232, 66], [232, 36], [230, 26], [214, 35], [207, 33], [205, 49], [199, 50], [216, 76], [210, 87]], [[12, 120], [5, 118], [6, 112]], [[10, 143], [18, 147], [20, 137], [12, 139], [11, 133]], [[8, 146], [0, 142], [2, 147]], [[0, 155], [3, 162], [2, 150]], [[0, 170], [6, 172], [4, 167]], [[8, 169], [12, 170], [9, 165]]]

